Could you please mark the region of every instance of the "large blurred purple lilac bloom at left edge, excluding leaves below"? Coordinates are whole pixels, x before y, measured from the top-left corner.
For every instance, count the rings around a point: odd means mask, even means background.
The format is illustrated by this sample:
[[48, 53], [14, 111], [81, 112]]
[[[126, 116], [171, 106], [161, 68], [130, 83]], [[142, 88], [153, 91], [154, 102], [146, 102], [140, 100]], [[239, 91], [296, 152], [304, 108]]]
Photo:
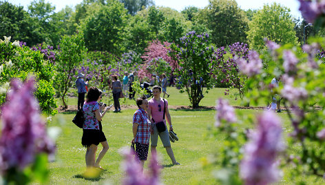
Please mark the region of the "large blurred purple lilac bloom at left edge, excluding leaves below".
[[21, 171], [39, 153], [54, 153], [55, 146], [46, 135], [45, 121], [33, 96], [34, 79], [10, 83], [6, 104], [1, 109], [3, 129], [0, 137], [0, 171]]

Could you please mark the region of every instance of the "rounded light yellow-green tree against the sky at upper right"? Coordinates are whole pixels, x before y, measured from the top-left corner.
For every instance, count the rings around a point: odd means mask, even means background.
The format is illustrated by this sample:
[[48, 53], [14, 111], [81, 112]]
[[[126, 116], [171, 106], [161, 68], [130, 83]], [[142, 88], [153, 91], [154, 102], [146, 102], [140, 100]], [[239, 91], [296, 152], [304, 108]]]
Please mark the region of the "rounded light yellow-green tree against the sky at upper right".
[[277, 3], [264, 5], [249, 22], [247, 39], [250, 47], [256, 50], [264, 48], [264, 38], [282, 44], [296, 43], [294, 27], [289, 8]]

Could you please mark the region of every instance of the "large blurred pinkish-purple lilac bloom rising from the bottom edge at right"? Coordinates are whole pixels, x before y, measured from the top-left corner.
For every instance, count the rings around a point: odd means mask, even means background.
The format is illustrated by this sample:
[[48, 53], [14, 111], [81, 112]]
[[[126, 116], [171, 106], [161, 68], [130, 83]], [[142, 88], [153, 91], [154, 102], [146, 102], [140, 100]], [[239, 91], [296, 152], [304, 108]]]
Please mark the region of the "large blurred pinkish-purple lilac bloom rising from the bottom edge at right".
[[284, 150], [280, 118], [272, 111], [264, 112], [258, 117], [258, 128], [250, 132], [249, 139], [240, 164], [240, 176], [245, 184], [277, 182], [280, 171], [276, 157]]

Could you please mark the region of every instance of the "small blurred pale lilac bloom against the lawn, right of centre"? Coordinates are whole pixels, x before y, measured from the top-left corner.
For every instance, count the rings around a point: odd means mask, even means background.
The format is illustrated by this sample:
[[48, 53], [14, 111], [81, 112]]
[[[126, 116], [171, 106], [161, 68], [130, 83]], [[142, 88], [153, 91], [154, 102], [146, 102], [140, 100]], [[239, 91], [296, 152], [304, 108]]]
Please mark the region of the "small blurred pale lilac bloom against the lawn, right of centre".
[[235, 110], [232, 106], [229, 106], [229, 103], [225, 99], [218, 99], [216, 106], [216, 122], [214, 126], [220, 126], [222, 120], [233, 123], [237, 121], [237, 117], [235, 116]]

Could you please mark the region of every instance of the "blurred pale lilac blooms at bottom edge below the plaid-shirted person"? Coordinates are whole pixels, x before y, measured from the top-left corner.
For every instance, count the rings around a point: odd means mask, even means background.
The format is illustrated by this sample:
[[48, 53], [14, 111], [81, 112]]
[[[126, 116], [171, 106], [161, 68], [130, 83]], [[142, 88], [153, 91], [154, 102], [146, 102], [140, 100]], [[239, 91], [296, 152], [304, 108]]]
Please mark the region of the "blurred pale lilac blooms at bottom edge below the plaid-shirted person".
[[152, 153], [149, 162], [149, 171], [147, 174], [143, 173], [142, 166], [135, 159], [134, 152], [129, 148], [123, 148], [122, 154], [124, 156], [123, 169], [126, 173], [126, 177], [123, 180], [124, 185], [158, 185], [159, 181], [160, 165], [156, 153]]

